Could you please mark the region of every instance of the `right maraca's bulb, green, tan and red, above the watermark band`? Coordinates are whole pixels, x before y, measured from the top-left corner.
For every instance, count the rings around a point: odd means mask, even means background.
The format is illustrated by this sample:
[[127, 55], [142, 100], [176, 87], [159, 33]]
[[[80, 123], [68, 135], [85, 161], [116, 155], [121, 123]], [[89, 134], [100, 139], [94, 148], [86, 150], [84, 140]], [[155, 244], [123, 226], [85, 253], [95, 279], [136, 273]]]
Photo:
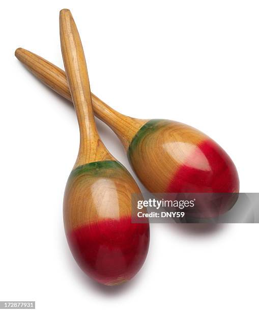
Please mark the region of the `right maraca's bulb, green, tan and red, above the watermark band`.
[[237, 169], [208, 136], [186, 124], [152, 119], [128, 148], [128, 159], [153, 193], [239, 192]]

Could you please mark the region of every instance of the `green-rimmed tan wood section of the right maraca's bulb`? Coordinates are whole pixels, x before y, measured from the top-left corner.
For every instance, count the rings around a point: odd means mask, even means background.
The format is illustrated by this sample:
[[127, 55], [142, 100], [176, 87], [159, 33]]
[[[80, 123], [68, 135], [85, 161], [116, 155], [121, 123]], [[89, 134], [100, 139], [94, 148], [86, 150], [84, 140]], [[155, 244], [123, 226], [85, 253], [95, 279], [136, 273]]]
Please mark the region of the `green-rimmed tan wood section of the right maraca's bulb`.
[[203, 133], [183, 123], [152, 120], [130, 144], [128, 159], [148, 190], [165, 193], [172, 177], [204, 139]]

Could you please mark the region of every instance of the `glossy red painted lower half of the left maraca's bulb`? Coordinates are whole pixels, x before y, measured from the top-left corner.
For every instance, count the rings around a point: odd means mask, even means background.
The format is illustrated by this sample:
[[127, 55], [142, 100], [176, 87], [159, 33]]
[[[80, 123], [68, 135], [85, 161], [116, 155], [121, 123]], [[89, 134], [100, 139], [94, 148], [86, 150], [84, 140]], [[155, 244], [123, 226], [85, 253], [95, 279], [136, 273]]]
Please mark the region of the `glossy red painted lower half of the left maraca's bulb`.
[[80, 268], [106, 285], [122, 283], [139, 271], [148, 253], [149, 236], [149, 224], [133, 224], [130, 218], [91, 223], [67, 233]]

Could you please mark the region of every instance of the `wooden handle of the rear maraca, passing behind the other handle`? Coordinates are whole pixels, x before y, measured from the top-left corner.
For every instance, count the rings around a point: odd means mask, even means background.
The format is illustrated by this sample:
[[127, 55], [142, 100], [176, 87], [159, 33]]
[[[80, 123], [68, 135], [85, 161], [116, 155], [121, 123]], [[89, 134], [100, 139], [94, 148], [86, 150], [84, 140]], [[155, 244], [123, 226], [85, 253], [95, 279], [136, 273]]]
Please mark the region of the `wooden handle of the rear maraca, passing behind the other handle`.
[[[45, 85], [72, 102], [64, 70], [23, 48], [17, 48], [15, 56]], [[96, 117], [105, 122], [116, 133], [127, 151], [136, 132], [148, 120], [136, 119], [120, 114], [93, 93], [92, 103]]]

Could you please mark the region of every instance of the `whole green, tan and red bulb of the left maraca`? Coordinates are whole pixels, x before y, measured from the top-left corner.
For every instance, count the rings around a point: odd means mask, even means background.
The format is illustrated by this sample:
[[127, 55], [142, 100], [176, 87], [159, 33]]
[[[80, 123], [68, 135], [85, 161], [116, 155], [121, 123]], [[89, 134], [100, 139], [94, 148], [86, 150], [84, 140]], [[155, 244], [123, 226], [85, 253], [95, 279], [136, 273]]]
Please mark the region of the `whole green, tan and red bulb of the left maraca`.
[[131, 223], [131, 195], [139, 193], [117, 161], [75, 168], [64, 196], [64, 224], [79, 267], [106, 285], [131, 279], [149, 248], [149, 223]]

